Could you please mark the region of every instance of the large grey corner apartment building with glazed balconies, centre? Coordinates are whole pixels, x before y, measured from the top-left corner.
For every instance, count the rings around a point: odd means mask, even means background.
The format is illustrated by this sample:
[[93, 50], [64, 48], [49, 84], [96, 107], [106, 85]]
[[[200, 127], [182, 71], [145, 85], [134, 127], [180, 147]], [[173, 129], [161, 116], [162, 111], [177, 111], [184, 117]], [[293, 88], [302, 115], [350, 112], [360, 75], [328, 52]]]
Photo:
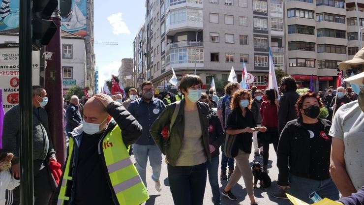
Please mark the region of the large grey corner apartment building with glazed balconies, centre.
[[133, 82], [168, 87], [172, 67], [181, 79], [196, 73], [209, 88], [226, 81], [231, 67], [242, 79], [245, 62], [265, 88], [272, 48], [276, 68], [285, 69], [283, 0], [146, 0], [146, 20], [133, 42]]

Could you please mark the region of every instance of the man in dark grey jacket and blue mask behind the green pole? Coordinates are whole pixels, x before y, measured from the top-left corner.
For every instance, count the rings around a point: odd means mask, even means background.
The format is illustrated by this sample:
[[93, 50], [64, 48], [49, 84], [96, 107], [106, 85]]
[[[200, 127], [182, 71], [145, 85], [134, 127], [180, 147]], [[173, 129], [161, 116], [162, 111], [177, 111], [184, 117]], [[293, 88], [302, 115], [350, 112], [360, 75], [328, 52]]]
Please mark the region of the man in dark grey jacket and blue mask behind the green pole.
[[[47, 165], [51, 161], [57, 162], [56, 152], [53, 149], [52, 138], [49, 133], [48, 115], [43, 109], [48, 103], [47, 91], [41, 86], [33, 86], [32, 95], [34, 204], [48, 205], [52, 195], [52, 187]], [[62, 128], [60, 127], [60, 129]], [[15, 178], [20, 177], [19, 133], [19, 105], [16, 105], [5, 114], [2, 132], [2, 148], [8, 149], [15, 156], [11, 166], [11, 172]], [[12, 192], [12, 197], [9, 197], [11, 193], [7, 194], [7, 200], [12, 199], [13, 205], [19, 205], [19, 192], [19, 187], [16, 187]]]

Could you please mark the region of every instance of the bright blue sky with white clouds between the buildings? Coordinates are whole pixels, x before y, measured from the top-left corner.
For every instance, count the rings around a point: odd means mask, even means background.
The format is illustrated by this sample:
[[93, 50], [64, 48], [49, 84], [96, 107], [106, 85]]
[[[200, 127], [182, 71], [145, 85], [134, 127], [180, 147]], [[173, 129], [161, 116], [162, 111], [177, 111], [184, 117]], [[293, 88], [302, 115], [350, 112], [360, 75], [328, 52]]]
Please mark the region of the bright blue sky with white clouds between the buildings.
[[95, 41], [119, 44], [94, 45], [99, 87], [118, 75], [121, 59], [133, 57], [133, 40], [144, 19], [145, 0], [94, 0]]

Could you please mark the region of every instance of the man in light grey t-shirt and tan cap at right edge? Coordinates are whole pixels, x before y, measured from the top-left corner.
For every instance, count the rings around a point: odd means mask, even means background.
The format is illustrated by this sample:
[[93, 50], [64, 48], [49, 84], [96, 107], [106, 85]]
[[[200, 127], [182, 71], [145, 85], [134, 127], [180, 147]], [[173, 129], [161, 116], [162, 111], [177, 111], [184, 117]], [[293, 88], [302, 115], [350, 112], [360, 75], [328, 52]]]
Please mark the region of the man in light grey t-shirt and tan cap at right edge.
[[[364, 186], [364, 49], [353, 59], [341, 62], [345, 81], [349, 82], [358, 100], [341, 106], [330, 129], [333, 137], [330, 174], [343, 197], [350, 196]], [[351, 77], [350, 77], [351, 76]]]

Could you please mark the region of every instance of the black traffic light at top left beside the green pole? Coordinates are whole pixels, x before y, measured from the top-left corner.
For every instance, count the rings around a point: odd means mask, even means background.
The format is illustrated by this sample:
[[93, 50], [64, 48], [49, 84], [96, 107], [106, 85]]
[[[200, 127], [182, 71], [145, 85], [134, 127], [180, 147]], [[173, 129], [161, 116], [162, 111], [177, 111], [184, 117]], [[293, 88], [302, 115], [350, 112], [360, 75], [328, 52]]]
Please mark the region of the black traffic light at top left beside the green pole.
[[58, 6], [58, 0], [32, 0], [33, 46], [40, 49], [48, 45], [57, 31], [56, 24], [49, 20]]

